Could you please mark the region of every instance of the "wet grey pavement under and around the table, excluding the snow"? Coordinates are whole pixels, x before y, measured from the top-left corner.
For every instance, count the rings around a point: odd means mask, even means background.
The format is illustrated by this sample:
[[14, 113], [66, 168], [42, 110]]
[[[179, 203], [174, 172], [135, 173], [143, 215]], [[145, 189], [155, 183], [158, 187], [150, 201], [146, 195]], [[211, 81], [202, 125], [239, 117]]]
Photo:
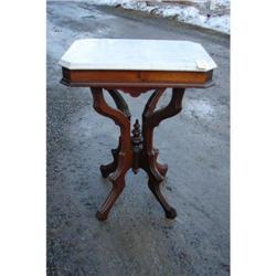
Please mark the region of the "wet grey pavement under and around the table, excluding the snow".
[[[112, 160], [118, 128], [94, 112], [88, 88], [59, 83], [59, 59], [82, 38], [191, 40], [217, 63], [216, 86], [187, 91], [182, 113], [156, 131], [176, 220], [164, 217], [142, 171], [127, 174], [109, 219], [96, 220], [110, 189], [98, 167]], [[47, 275], [230, 274], [229, 78], [226, 35], [86, 2], [47, 2]], [[139, 117], [148, 94], [125, 98]]]

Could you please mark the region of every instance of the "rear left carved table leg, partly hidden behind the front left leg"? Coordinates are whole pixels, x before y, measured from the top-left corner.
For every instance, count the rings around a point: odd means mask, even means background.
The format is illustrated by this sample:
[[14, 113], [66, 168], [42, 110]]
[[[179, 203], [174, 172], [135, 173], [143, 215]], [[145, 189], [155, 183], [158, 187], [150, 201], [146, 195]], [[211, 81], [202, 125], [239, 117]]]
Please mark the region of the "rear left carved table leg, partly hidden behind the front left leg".
[[[124, 97], [120, 95], [120, 93], [116, 89], [107, 89], [110, 96], [113, 97], [117, 108], [121, 110], [130, 120], [131, 115], [128, 108], [127, 103], [125, 102]], [[116, 170], [116, 167], [118, 164], [118, 153], [120, 151], [120, 140], [118, 142], [118, 147], [116, 149], [112, 149], [113, 155], [113, 162], [108, 164], [100, 164], [99, 170], [103, 178], [107, 178], [112, 172]]]

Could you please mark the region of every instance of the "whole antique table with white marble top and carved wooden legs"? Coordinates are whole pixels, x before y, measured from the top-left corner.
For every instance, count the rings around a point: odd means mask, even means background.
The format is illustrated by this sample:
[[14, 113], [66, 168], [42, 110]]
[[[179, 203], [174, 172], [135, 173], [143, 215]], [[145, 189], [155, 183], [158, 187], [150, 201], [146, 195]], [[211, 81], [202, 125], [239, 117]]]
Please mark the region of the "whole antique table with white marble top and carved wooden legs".
[[[98, 220], [108, 213], [125, 187], [125, 174], [141, 168], [148, 177], [148, 187], [164, 210], [168, 219], [177, 216], [160, 191], [168, 166], [157, 161], [153, 147], [153, 129], [161, 120], [181, 112], [187, 87], [206, 88], [213, 85], [216, 64], [199, 43], [169, 40], [84, 39], [75, 41], [61, 57], [63, 77], [68, 86], [89, 87], [94, 108], [109, 117], [120, 128], [118, 147], [112, 150], [114, 161], [100, 166], [104, 178], [109, 177], [113, 189], [97, 211]], [[166, 88], [172, 88], [169, 104], [156, 110]], [[116, 108], [104, 97], [106, 89]], [[119, 93], [138, 97], [152, 92], [142, 112], [142, 126], [138, 119], [131, 130], [131, 115]], [[173, 147], [173, 142], [171, 144]]]

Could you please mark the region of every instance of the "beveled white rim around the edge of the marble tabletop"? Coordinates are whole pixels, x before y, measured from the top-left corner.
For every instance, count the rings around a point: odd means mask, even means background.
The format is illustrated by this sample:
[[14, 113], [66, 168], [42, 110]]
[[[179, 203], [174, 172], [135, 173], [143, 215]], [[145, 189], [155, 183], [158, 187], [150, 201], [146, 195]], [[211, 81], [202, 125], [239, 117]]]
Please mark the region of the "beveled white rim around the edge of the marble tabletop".
[[[173, 43], [173, 42], [184, 42], [184, 43], [191, 43], [191, 44], [195, 44], [195, 45], [200, 45], [201, 46], [201, 51], [202, 53], [208, 57], [208, 66], [205, 66], [204, 68], [200, 68], [198, 65], [198, 61], [193, 61], [193, 64], [181, 64], [181, 65], [176, 65], [176, 64], [169, 64], [169, 63], [160, 63], [159, 60], [159, 64], [134, 64], [134, 63], [128, 63], [127, 66], [119, 66], [118, 64], [114, 63], [112, 64], [110, 62], [108, 63], [100, 63], [100, 64], [93, 64], [93, 63], [72, 63], [72, 62], [67, 62], [65, 61], [66, 55], [70, 54], [70, 51], [72, 50], [74, 44], [81, 43], [81, 42], [85, 42], [85, 41], [120, 41], [120, 42], [126, 42], [126, 41], [145, 41], [145, 42], [162, 42], [163, 40], [125, 40], [125, 39], [83, 39], [83, 40], [76, 40], [70, 47], [68, 50], [63, 54], [63, 56], [61, 57], [61, 60], [59, 61], [59, 65], [61, 65], [62, 67], [68, 68], [68, 70], [112, 70], [112, 71], [169, 71], [169, 72], [176, 72], [176, 71], [180, 71], [180, 72], [208, 72], [210, 70], [216, 68], [217, 65], [215, 64], [215, 62], [213, 61], [213, 59], [208, 54], [208, 52], [204, 50], [204, 47], [195, 42], [191, 42], [191, 41], [173, 41], [173, 40], [166, 40], [164, 42], [169, 42], [169, 43]], [[197, 63], [198, 66], [194, 65], [194, 62]], [[202, 61], [199, 61], [199, 63], [201, 63]], [[204, 63], [204, 61], [203, 61]]]

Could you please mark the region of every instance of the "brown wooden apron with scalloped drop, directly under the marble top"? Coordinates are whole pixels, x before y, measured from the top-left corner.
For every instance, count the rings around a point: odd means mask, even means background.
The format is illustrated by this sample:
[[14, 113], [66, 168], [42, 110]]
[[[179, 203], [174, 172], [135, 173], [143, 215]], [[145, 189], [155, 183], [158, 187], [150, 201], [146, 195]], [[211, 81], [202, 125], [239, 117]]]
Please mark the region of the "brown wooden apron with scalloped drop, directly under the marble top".
[[61, 83], [73, 87], [100, 87], [120, 89], [138, 97], [155, 88], [206, 88], [214, 85], [213, 71], [173, 72], [173, 71], [97, 71], [68, 70], [63, 67]]

